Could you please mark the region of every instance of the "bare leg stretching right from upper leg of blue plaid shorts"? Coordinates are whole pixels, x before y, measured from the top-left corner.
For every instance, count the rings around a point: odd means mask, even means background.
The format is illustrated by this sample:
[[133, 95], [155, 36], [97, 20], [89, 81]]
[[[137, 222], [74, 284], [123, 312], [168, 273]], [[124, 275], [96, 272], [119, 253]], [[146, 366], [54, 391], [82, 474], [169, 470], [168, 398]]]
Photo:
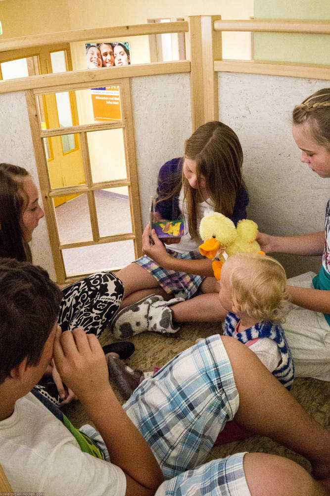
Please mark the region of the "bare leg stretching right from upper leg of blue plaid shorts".
[[228, 336], [222, 340], [239, 393], [237, 424], [305, 456], [312, 464], [313, 476], [326, 484], [330, 477], [330, 432], [299, 405], [248, 347]]

